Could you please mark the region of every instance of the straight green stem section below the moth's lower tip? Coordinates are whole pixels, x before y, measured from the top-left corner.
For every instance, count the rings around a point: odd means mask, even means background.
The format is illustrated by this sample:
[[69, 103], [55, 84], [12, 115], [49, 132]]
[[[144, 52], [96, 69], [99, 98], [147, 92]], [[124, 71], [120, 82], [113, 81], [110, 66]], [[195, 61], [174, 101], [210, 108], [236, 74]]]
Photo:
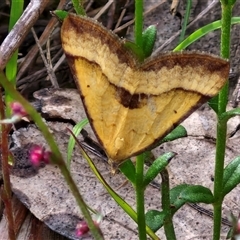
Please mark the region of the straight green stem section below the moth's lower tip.
[[139, 239], [145, 240], [146, 238], [146, 221], [144, 212], [144, 184], [143, 172], [144, 170], [144, 156], [140, 154], [136, 160], [136, 204], [137, 204], [137, 223], [138, 223], [138, 236]]

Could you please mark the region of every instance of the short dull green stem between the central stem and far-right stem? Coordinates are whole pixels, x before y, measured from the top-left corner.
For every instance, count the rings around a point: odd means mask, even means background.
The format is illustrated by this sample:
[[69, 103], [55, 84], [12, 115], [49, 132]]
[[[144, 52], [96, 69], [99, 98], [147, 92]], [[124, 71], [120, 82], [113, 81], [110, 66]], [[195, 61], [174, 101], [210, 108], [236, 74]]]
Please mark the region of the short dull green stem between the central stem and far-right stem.
[[169, 186], [169, 175], [168, 171], [165, 168], [161, 171], [162, 177], [162, 209], [166, 213], [166, 218], [164, 219], [163, 227], [165, 235], [168, 240], [176, 240], [176, 235], [174, 231], [172, 213], [171, 213], [171, 203], [170, 203], [170, 186]]

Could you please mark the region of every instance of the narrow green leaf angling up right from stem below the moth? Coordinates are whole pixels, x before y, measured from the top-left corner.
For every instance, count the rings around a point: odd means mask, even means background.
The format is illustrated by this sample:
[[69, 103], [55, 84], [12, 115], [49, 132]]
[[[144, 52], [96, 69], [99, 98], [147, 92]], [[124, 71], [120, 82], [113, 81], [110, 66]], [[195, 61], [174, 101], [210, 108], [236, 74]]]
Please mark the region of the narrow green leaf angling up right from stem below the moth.
[[144, 176], [143, 184], [145, 187], [153, 181], [153, 179], [168, 165], [175, 155], [176, 153], [173, 152], [165, 153], [153, 162]]

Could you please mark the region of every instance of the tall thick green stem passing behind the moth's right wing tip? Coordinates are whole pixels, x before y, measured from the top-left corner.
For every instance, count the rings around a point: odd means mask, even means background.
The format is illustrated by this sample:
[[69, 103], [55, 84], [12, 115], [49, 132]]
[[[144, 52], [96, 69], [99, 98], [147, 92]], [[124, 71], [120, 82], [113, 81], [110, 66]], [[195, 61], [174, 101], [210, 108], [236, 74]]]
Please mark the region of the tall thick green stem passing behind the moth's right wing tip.
[[[230, 30], [233, 4], [222, 1], [222, 32], [221, 32], [221, 56], [229, 58], [230, 55]], [[227, 136], [227, 121], [220, 121], [219, 117], [226, 112], [228, 102], [228, 83], [220, 91], [218, 96], [218, 124], [217, 124], [217, 141], [216, 141], [216, 159], [214, 175], [214, 227], [213, 239], [220, 239], [222, 202], [224, 199], [222, 193], [224, 159]]]

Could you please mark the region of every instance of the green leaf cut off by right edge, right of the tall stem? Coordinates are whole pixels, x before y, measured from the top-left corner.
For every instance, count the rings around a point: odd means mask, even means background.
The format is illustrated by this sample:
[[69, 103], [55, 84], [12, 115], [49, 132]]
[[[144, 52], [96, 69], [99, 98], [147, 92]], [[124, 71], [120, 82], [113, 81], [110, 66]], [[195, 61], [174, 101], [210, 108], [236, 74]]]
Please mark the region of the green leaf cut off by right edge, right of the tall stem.
[[232, 160], [223, 173], [223, 197], [240, 183], [240, 157]]

